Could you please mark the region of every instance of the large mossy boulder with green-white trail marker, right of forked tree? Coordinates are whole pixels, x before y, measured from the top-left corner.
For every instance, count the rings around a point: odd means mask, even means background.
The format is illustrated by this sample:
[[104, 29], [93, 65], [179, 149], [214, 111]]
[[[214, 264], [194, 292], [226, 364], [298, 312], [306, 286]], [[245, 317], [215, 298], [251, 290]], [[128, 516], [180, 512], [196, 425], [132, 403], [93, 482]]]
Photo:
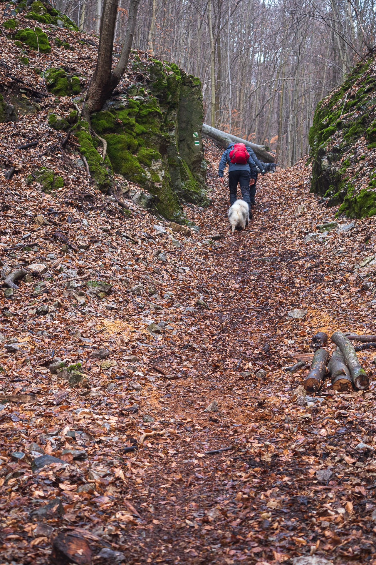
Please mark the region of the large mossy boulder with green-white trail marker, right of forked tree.
[[174, 64], [152, 60], [142, 65], [136, 61], [149, 72], [150, 90], [132, 85], [92, 115], [91, 124], [107, 141], [114, 171], [146, 189], [162, 216], [184, 221], [180, 202], [209, 203], [202, 167], [201, 83]]

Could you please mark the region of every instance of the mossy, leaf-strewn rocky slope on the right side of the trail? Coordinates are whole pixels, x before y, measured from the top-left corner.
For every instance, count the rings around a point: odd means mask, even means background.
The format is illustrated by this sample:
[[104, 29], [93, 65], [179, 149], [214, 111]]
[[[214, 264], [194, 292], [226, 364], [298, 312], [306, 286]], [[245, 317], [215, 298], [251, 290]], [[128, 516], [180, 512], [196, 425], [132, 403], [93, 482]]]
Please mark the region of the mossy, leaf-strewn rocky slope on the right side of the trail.
[[309, 132], [311, 191], [352, 218], [376, 214], [375, 90], [370, 59], [317, 105]]

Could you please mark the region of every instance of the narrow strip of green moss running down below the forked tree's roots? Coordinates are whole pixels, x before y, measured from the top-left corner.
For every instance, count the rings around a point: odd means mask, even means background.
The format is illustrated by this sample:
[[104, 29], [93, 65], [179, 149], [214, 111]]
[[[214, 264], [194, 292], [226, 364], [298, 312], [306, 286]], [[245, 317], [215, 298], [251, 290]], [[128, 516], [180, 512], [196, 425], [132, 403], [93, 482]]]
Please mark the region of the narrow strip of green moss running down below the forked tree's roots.
[[103, 161], [96, 150], [96, 140], [93, 140], [91, 137], [89, 124], [86, 121], [79, 121], [72, 128], [72, 131], [78, 138], [79, 145], [81, 146], [81, 155], [86, 158], [90, 174], [95, 179], [100, 192], [107, 193], [110, 186], [112, 186], [113, 175], [113, 168], [108, 155], [106, 155], [105, 161]]

